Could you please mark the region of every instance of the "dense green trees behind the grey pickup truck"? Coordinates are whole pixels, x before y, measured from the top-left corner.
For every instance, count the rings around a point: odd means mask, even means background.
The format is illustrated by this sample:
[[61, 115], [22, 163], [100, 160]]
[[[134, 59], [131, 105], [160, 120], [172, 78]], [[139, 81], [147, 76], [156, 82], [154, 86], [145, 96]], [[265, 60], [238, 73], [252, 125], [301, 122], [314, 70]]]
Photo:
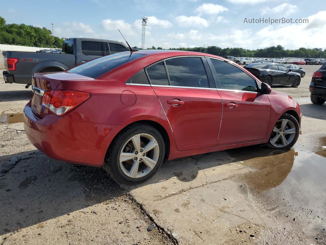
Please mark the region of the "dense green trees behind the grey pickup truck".
[[0, 43], [30, 47], [61, 48], [63, 38], [52, 36], [49, 29], [25, 24], [6, 24], [0, 16]]

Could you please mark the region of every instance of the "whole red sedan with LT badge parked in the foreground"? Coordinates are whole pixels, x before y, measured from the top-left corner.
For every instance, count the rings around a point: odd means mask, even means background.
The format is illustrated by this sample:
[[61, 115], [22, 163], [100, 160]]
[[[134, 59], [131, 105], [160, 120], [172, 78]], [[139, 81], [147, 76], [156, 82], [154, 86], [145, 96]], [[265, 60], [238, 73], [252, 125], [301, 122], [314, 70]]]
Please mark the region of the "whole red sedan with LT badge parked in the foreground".
[[34, 74], [24, 108], [29, 140], [46, 155], [104, 167], [137, 184], [164, 159], [265, 144], [294, 145], [301, 110], [214, 55], [165, 50], [100, 57]]

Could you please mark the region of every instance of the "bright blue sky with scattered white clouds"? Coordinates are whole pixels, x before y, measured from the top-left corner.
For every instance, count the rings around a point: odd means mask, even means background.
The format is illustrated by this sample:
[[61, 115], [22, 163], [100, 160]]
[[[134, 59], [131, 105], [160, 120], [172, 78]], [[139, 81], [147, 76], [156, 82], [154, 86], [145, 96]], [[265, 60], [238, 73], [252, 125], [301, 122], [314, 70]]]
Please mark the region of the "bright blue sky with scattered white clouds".
[[[141, 47], [141, 18], [147, 17], [145, 48], [219, 46], [246, 49], [326, 48], [324, 0], [36, 0], [4, 1], [7, 24], [46, 27], [55, 36], [123, 41]], [[308, 24], [244, 23], [245, 18], [308, 19]], [[248, 21], [249, 22], [249, 21]]]

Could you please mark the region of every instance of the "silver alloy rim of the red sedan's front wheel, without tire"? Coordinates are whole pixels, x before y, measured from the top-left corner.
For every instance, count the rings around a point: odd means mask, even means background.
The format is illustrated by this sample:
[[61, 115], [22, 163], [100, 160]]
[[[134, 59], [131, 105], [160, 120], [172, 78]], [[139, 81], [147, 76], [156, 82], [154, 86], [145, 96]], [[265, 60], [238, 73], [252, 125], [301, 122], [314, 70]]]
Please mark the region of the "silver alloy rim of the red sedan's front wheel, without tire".
[[276, 122], [269, 142], [274, 147], [281, 148], [289, 145], [294, 137], [294, 124], [288, 119], [281, 119]]

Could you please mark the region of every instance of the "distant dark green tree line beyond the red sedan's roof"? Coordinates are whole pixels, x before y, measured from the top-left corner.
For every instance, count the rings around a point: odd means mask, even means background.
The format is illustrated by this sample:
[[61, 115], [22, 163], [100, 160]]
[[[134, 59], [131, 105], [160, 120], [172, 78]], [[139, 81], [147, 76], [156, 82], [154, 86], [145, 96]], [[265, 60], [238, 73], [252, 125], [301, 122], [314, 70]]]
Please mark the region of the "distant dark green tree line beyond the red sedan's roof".
[[[137, 47], [134, 47], [137, 48]], [[162, 49], [161, 47], [152, 46], [147, 49]], [[284, 49], [282, 45], [271, 46], [256, 50], [244, 48], [220, 48], [218, 46], [209, 46], [208, 48], [194, 47], [194, 48], [170, 48], [170, 50], [183, 50], [208, 53], [217, 56], [234, 56], [234, 57], [299, 57], [299, 58], [325, 58], [326, 49], [321, 48], [299, 48], [299, 49]]]

